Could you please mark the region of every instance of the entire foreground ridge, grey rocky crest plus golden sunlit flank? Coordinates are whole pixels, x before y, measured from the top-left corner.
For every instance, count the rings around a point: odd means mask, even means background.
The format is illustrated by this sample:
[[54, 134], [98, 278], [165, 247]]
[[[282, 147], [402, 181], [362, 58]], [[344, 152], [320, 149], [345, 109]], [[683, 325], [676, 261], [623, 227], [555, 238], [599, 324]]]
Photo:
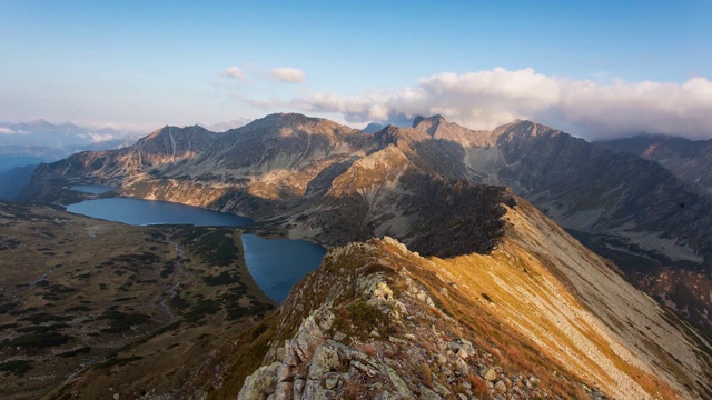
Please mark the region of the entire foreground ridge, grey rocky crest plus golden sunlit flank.
[[238, 399], [708, 396], [710, 343], [517, 203], [490, 256], [424, 259], [390, 238], [330, 250]]

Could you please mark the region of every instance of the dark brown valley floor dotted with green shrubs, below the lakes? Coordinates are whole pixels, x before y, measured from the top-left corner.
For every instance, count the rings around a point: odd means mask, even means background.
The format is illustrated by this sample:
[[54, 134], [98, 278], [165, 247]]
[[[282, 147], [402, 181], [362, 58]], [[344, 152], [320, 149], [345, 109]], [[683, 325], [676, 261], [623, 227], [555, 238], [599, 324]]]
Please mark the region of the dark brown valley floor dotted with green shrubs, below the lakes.
[[200, 390], [210, 352], [274, 308], [233, 229], [0, 203], [0, 243], [4, 398]]

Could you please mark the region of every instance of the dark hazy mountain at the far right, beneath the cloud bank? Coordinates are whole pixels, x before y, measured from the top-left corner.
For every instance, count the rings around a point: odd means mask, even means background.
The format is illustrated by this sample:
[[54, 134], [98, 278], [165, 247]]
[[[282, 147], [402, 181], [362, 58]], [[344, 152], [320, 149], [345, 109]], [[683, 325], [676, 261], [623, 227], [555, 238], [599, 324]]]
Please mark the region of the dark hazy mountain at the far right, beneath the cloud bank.
[[712, 139], [641, 134], [596, 142], [613, 151], [630, 152], [659, 162], [685, 183], [712, 197]]

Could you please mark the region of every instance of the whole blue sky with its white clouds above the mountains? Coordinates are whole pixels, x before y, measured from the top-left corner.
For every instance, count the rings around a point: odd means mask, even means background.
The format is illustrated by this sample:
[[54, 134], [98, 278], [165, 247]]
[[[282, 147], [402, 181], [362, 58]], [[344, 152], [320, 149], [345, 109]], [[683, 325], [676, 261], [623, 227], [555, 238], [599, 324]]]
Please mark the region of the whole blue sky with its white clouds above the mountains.
[[[0, 0], [0, 121], [151, 130], [298, 111], [362, 126], [441, 111], [583, 136], [692, 117], [682, 134], [708, 137], [710, 20], [710, 1]], [[601, 121], [620, 98], [632, 109]], [[670, 121], [642, 121], [661, 108]]]

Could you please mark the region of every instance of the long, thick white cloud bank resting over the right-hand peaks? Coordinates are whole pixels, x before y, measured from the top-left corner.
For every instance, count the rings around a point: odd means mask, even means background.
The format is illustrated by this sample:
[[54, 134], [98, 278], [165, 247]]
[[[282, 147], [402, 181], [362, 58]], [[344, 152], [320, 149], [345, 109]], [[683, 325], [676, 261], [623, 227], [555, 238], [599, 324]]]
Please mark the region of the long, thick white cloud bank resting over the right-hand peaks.
[[389, 121], [405, 114], [442, 114], [472, 129], [493, 129], [530, 119], [590, 140], [642, 132], [712, 138], [712, 82], [692, 78], [682, 84], [625, 82], [601, 84], [508, 71], [443, 72], [414, 87], [360, 96], [314, 93], [291, 107], [336, 112], [348, 122]]

